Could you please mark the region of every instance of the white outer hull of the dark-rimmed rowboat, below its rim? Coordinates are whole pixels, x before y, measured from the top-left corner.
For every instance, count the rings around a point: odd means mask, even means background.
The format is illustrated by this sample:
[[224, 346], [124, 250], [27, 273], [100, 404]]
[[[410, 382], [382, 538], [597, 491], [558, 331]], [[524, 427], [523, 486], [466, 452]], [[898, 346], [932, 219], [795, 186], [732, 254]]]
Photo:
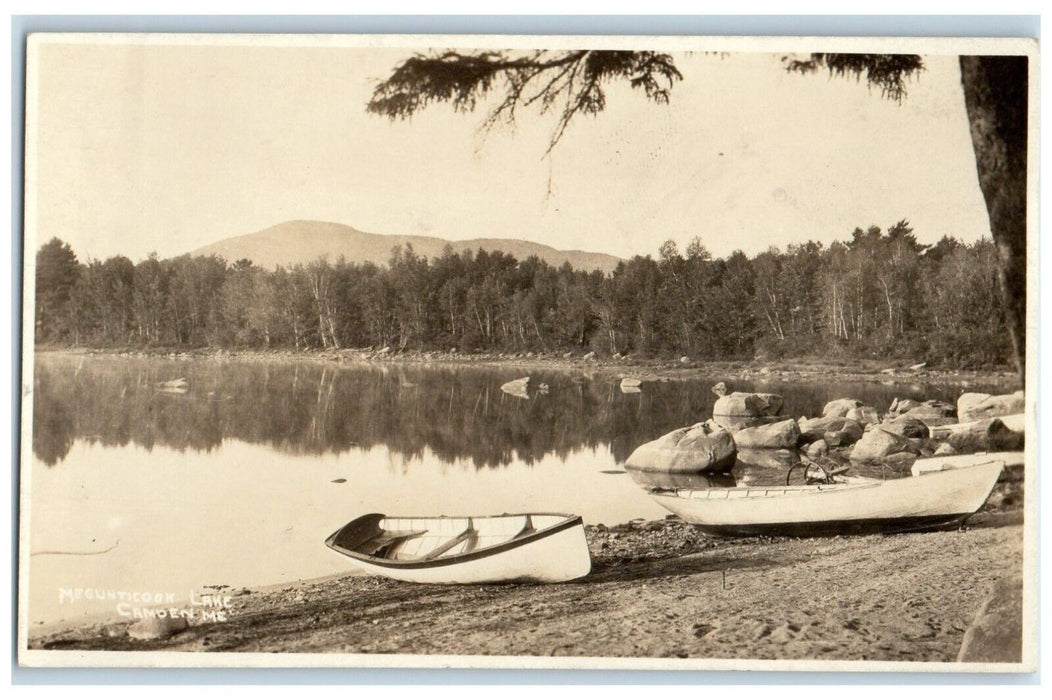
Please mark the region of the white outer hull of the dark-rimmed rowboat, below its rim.
[[342, 549], [331, 541], [330, 547], [364, 572], [411, 583], [560, 583], [591, 572], [580, 517], [522, 540], [433, 560], [389, 561]]

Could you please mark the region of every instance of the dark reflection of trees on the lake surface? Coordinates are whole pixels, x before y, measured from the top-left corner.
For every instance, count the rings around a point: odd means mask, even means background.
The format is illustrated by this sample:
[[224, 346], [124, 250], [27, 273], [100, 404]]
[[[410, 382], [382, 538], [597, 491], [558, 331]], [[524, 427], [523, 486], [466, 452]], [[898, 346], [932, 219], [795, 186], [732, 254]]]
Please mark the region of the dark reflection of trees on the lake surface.
[[[566, 460], [609, 445], [623, 462], [639, 444], [711, 415], [715, 381], [646, 383], [622, 394], [615, 379], [533, 373], [550, 392], [530, 400], [500, 391], [522, 371], [340, 366], [311, 362], [169, 361], [42, 357], [36, 362], [34, 454], [54, 465], [75, 439], [209, 451], [224, 439], [320, 455], [387, 445], [411, 459], [470, 459], [477, 467]], [[185, 377], [185, 394], [159, 391]], [[885, 409], [893, 398], [954, 400], [959, 387], [735, 382], [785, 395], [786, 413], [815, 415], [850, 396]]]

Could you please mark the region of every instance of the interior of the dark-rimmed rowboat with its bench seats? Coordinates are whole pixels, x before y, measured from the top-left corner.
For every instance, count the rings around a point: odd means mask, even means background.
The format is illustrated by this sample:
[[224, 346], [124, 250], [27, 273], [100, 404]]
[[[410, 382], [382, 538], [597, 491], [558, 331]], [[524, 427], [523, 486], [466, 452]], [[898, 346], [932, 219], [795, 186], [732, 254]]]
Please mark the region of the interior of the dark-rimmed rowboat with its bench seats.
[[389, 561], [429, 561], [478, 552], [566, 520], [561, 515], [398, 518], [379, 514], [348, 523], [331, 545]]

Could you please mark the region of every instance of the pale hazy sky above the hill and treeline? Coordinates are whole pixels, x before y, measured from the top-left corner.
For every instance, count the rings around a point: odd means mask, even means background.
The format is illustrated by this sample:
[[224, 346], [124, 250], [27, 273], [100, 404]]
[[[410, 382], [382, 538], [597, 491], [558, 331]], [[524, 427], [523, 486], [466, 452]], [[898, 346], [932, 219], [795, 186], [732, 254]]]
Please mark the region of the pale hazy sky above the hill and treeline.
[[670, 105], [611, 86], [548, 160], [552, 119], [532, 113], [486, 136], [483, 112], [367, 115], [405, 49], [39, 48], [37, 242], [81, 259], [178, 255], [288, 219], [625, 257], [694, 236], [717, 256], [828, 243], [903, 218], [925, 242], [989, 235], [954, 57], [926, 58], [898, 104], [787, 74], [780, 54], [676, 55]]

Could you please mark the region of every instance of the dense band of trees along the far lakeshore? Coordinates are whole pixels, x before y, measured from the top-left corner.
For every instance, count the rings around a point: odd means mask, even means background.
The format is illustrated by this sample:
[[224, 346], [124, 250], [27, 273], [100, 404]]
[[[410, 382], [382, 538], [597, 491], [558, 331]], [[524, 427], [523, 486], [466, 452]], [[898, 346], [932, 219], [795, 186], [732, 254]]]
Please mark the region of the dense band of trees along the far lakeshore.
[[611, 274], [451, 245], [389, 264], [77, 259], [37, 253], [36, 341], [93, 347], [567, 352], [636, 357], [924, 359], [1007, 364], [989, 239], [918, 243], [903, 220], [754, 257], [665, 242]]

